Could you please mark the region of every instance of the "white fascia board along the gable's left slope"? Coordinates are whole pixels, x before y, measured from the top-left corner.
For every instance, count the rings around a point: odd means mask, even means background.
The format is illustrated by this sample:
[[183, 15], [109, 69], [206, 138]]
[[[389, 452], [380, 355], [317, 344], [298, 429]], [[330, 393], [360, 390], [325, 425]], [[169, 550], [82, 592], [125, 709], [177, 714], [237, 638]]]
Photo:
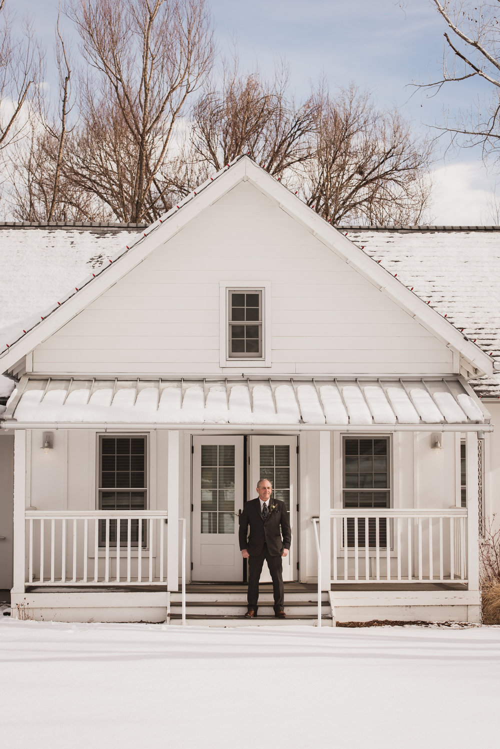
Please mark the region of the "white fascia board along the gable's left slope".
[[137, 267], [151, 252], [177, 234], [184, 226], [195, 219], [207, 207], [210, 207], [226, 192], [243, 180], [246, 174], [246, 163], [249, 160], [238, 161], [227, 172], [219, 175], [213, 184], [188, 203], [180, 207], [177, 213], [171, 215], [165, 222], [154, 222], [138, 242], [120, 255], [106, 270], [91, 279], [87, 285], [61, 304], [61, 307], [51, 312], [34, 328], [28, 330], [19, 341], [0, 355], [0, 372], [7, 372], [22, 357], [33, 351], [38, 345], [46, 341], [57, 330], [67, 324], [72, 318], [82, 312], [85, 307], [105, 294], [115, 283], [120, 281], [126, 273]]

